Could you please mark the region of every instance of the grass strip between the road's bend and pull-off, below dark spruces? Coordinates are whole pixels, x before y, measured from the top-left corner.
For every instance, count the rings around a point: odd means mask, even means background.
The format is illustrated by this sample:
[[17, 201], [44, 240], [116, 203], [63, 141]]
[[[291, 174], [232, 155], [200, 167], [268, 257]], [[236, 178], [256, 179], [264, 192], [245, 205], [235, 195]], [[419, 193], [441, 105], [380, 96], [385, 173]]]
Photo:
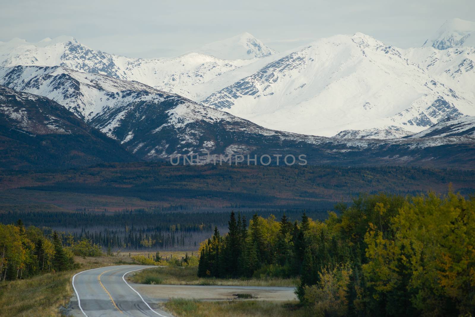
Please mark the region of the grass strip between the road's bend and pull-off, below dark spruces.
[[296, 286], [298, 279], [215, 279], [198, 278], [197, 267], [159, 267], [139, 271], [129, 277], [138, 284], [218, 285], [218, 286]]

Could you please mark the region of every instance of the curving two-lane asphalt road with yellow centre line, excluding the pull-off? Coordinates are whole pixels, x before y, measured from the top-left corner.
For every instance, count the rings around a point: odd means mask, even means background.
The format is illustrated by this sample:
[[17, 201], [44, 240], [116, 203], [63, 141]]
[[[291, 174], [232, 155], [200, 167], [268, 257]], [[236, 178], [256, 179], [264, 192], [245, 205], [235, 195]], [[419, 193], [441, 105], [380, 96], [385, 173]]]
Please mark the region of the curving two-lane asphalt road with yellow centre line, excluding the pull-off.
[[119, 265], [91, 269], [73, 277], [76, 301], [72, 301], [73, 316], [105, 317], [172, 317], [159, 308], [150, 307], [150, 299], [132, 288], [124, 276], [143, 265]]

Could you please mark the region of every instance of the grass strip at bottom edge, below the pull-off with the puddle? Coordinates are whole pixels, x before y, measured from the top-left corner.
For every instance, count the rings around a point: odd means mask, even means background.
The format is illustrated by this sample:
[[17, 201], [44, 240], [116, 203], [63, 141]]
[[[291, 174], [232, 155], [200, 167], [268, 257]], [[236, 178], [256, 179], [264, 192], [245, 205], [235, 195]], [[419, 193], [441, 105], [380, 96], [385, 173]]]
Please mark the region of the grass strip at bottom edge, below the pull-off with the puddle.
[[177, 317], [314, 317], [298, 301], [276, 303], [256, 300], [199, 301], [173, 298], [164, 306]]

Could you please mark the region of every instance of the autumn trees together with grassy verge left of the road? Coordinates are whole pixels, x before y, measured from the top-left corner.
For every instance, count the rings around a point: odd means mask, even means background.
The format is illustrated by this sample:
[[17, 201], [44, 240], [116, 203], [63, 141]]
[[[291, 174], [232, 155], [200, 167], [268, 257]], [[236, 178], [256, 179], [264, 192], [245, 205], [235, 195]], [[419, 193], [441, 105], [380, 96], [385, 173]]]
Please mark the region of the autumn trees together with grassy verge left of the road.
[[72, 295], [73, 274], [122, 261], [101, 257], [100, 248], [90, 241], [65, 247], [62, 240], [61, 233], [45, 234], [34, 226], [25, 228], [21, 221], [0, 224], [1, 316], [62, 316], [61, 307]]

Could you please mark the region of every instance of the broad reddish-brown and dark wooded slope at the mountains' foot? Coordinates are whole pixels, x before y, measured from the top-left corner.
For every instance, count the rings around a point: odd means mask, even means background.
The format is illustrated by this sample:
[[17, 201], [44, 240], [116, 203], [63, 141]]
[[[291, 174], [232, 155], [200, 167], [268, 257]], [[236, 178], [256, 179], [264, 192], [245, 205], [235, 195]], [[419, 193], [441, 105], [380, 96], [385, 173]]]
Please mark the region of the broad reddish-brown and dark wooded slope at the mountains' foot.
[[473, 193], [475, 171], [108, 163], [59, 172], [2, 171], [0, 212], [331, 209], [336, 202], [350, 202], [361, 192], [447, 192], [449, 183], [463, 195]]

